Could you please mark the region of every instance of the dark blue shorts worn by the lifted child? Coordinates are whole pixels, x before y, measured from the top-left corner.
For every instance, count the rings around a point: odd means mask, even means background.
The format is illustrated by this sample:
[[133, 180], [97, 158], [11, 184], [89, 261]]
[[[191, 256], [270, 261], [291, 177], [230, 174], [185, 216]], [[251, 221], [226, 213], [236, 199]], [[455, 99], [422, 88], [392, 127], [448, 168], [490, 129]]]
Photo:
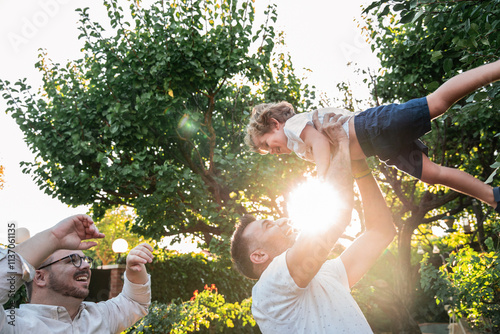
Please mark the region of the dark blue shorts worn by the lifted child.
[[427, 98], [367, 109], [354, 117], [354, 128], [367, 157], [422, 177], [422, 153], [428, 148], [419, 138], [431, 130]]

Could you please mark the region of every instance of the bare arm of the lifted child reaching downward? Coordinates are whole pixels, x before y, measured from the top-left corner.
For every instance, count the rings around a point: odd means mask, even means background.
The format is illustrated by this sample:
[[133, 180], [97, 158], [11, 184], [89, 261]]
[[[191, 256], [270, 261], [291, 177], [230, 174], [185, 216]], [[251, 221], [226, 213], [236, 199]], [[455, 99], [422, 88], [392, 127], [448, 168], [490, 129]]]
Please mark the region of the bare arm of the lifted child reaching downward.
[[300, 134], [300, 138], [308, 147], [312, 148], [318, 178], [324, 180], [328, 167], [330, 166], [330, 142], [328, 138], [316, 130], [312, 125], [306, 125]]

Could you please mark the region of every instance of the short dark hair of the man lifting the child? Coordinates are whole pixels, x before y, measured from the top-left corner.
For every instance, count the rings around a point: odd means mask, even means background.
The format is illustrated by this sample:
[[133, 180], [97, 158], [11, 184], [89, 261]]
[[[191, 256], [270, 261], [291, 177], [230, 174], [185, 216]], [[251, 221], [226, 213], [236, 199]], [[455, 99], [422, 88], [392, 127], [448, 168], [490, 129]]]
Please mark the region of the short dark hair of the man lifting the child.
[[259, 279], [259, 275], [253, 270], [253, 263], [250, 260], [250, 245], [248, 238], [243, 237], [243, 232], [250, 223], [256, 221], [252, 215], [244, 215], [240, 218], [239, 223], [231, 238], [231, 259], [236, 269], [250, 279]]

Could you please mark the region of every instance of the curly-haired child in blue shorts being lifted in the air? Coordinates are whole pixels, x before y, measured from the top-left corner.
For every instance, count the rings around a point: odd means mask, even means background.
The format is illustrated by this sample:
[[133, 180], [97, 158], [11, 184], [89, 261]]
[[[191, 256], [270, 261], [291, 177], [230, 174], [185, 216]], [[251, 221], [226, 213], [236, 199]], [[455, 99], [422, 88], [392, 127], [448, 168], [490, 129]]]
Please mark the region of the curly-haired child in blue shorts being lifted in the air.
[[[390, 104], [351, 114], [344, 123], [352, 160], [377, 156], [387, 165], [428, 184], [441, 184], [477, 198], [500, 213], [500, 188], [491, 187], [459, 169], [437, 165], [427, 157], [427, 147], [418, 139], [431, 130], [431, 120], [444, 114], [455, 102], [474, 90], [500, 79], [500, 60], [463, 72], [427, 97], [403, 104]], [[344, 113], [335, 108], [318, 112]], [[288, 102], [257, 105], [247, 126], [246, 144], [261, 154], [289, 154], [316, 163], [318, 177], [328, 170], [330, 144], [313, 126], [313, 112], [295, 114]], [[367, 171], [366, 173], [369, 173]], [[362, 177], [363, 175], [355, 175]]]

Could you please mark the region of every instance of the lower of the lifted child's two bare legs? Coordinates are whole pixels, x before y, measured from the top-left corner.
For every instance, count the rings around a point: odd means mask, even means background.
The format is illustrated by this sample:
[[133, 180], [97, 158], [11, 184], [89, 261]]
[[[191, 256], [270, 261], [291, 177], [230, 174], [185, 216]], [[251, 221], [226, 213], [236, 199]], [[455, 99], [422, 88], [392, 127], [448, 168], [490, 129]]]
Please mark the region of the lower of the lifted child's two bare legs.
[[498, 206], [491, 186], [459, 169], [437, 165], [430, 161], [425, 154], [422, 154], [421, 180], [428, 184], [444, 185], [462, 194], [477, 198], [493, 208]]

